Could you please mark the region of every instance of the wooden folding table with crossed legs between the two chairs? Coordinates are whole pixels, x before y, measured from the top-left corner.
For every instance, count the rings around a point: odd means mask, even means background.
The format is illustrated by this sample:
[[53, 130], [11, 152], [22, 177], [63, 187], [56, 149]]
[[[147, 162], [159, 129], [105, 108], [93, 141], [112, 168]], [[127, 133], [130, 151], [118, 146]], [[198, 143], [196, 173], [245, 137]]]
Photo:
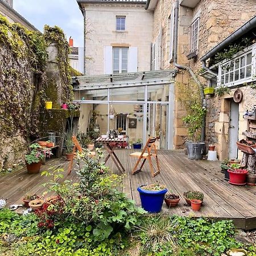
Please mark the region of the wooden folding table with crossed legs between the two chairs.
[[119, 143], [126, 142], [126, 138], [122, 138], [122, 139], [118, 139], [118, 138], [102, 139], [101, 137], [99, 137], [99, 138], [96, 139], [96, 142], [103, 144], [106, 151], [108, 152], [108, 155], [105, 158], [105, 163], [108, 161], [109, 158], [112, 158], [112, 160], [115, 163], [115, 166], [117, 166], [118, 170], [121, 171], [121, 172], [125, 172], [125, 168], [123, 167], [122, 163], [118, 159], [114, 150], [115, 150], [115, 148], [117, 148]]

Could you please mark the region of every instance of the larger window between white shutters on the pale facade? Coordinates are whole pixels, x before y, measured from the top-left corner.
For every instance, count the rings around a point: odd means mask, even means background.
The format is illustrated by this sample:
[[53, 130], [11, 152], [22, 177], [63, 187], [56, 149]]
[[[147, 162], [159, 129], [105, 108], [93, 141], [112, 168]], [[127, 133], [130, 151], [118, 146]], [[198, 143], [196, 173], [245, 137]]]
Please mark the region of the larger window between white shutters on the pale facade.
[[128, 72], [128, 47], [113, 47], [113, 74]]

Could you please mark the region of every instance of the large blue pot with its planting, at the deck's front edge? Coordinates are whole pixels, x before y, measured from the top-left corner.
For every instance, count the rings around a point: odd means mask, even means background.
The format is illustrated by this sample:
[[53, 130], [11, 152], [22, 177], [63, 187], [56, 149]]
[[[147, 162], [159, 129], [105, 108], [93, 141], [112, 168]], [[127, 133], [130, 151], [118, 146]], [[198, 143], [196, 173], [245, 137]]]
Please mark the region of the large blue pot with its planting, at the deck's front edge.
[[150, 184], [137, 188], [141, 197], [141, 205], [150, 213], [158, 213], [162, 209], [164, 195], [168, 191], [165, 185]]

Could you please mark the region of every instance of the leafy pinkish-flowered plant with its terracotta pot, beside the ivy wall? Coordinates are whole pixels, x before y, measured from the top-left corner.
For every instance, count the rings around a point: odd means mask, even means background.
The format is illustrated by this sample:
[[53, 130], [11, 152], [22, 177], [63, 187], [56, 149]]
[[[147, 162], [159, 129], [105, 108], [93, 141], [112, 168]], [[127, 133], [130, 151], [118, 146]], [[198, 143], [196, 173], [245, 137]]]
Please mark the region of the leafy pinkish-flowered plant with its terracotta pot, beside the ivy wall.
[[30, 151], [25, 155], [27, 172], [28, 174], [38, 174], [42, 160], [46, 156], [52, 155], [51, 149], [43, 148], [38, 143], [32, 143], [29, 148]]

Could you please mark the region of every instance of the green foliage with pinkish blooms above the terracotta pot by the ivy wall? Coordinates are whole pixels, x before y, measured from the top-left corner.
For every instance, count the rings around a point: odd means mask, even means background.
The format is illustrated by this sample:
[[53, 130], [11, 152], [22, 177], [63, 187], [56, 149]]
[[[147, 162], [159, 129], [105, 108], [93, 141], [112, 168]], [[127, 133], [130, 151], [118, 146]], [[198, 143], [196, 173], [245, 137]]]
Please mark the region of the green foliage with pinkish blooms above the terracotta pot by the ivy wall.
[[38, 143], [32, 143], [30, 145], [29, 154], [25, 155], [26, 163], [38, 163], [40, 162], [44, 156], [52, 155], [52, 151], [50, 148], [43, 148]]

